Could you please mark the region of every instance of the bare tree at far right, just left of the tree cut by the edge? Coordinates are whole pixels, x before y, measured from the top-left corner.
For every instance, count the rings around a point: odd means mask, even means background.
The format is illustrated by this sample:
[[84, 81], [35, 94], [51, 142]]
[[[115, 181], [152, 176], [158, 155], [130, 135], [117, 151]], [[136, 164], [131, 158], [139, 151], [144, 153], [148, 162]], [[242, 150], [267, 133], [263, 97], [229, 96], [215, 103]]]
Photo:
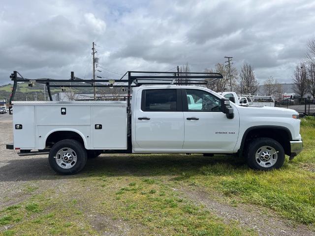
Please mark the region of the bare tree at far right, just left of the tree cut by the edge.
[[308, 86], [306, 67], [304, 62], [296, 65], [296, 68], [293, 72], [292, 81], [294, 84], [293, 91], [301, 97], [304, 97], [307, 93]]

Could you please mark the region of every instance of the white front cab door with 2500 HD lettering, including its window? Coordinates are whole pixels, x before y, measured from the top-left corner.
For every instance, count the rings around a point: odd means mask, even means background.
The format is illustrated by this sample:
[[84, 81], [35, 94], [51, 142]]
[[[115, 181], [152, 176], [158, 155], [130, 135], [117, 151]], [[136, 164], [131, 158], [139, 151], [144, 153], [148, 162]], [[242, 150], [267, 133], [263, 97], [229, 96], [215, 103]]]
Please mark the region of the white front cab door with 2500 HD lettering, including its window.
[[[233, 150], [239, 132], [239, 115], [228, 119], [221, 112], [221, 98], [202, 89], [182, 89], [185, 138], [183, 149], [222, 152]], [[193, 104], [187, 103], [192, 96]]]

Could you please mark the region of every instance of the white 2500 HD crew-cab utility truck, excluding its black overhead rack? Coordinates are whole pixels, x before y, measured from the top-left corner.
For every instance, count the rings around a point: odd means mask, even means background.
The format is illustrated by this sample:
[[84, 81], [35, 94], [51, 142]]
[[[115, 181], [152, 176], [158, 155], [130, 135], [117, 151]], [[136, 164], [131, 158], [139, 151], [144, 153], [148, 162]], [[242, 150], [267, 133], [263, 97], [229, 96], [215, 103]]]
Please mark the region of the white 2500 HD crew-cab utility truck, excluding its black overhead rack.
[[296, 111], [242, 107], [197, 86], [134, 87], [130, 110], [126, 101], [12, 104], [14, 144], [7, 148], [49, 154], [50, 166], [61, 174], [75, 174], [89, 156], [110, 150], [235, 153], [256, 170], [280, 168], [285, 154], [291, 159], [302, 150]]

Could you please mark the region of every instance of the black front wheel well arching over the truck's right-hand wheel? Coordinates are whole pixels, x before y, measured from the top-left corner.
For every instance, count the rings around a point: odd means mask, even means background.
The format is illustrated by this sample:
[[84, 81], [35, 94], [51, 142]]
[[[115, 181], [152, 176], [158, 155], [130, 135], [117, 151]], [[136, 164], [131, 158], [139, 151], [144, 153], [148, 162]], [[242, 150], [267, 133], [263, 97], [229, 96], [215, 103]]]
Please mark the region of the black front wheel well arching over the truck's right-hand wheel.
[[291, 154], [291, 149], [290, 149], [290, 140], [291, 140], [291, 134], [288, 130], [283, 129], [283, 128], [253, 128], [245, 132], [245, 135], [242, 139], [242, 150], [245, 150], [247, 145], [250, 143], [252, 139], [255, 138], [271, 138], [279, 142], [282, 147], [284, 148], [284, 153], [286, 155]]

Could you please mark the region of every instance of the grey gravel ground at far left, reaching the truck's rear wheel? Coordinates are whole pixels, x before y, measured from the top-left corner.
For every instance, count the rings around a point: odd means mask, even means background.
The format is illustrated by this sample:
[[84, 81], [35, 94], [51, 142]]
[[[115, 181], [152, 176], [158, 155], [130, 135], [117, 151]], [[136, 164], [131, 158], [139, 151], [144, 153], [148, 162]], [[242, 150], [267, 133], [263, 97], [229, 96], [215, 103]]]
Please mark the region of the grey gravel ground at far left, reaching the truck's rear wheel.
[[[34, 193], [44, 191], [58, 184], [59, 176], [50, 169], [46, 155], [18, 156], [14, 150], [7, 150], [12, 143], [12, 116], [0, 116], [0, 208], [16, 204], [28, 198], [28, 188]], [[52, 181], [54, 179], [54, 181]]]

